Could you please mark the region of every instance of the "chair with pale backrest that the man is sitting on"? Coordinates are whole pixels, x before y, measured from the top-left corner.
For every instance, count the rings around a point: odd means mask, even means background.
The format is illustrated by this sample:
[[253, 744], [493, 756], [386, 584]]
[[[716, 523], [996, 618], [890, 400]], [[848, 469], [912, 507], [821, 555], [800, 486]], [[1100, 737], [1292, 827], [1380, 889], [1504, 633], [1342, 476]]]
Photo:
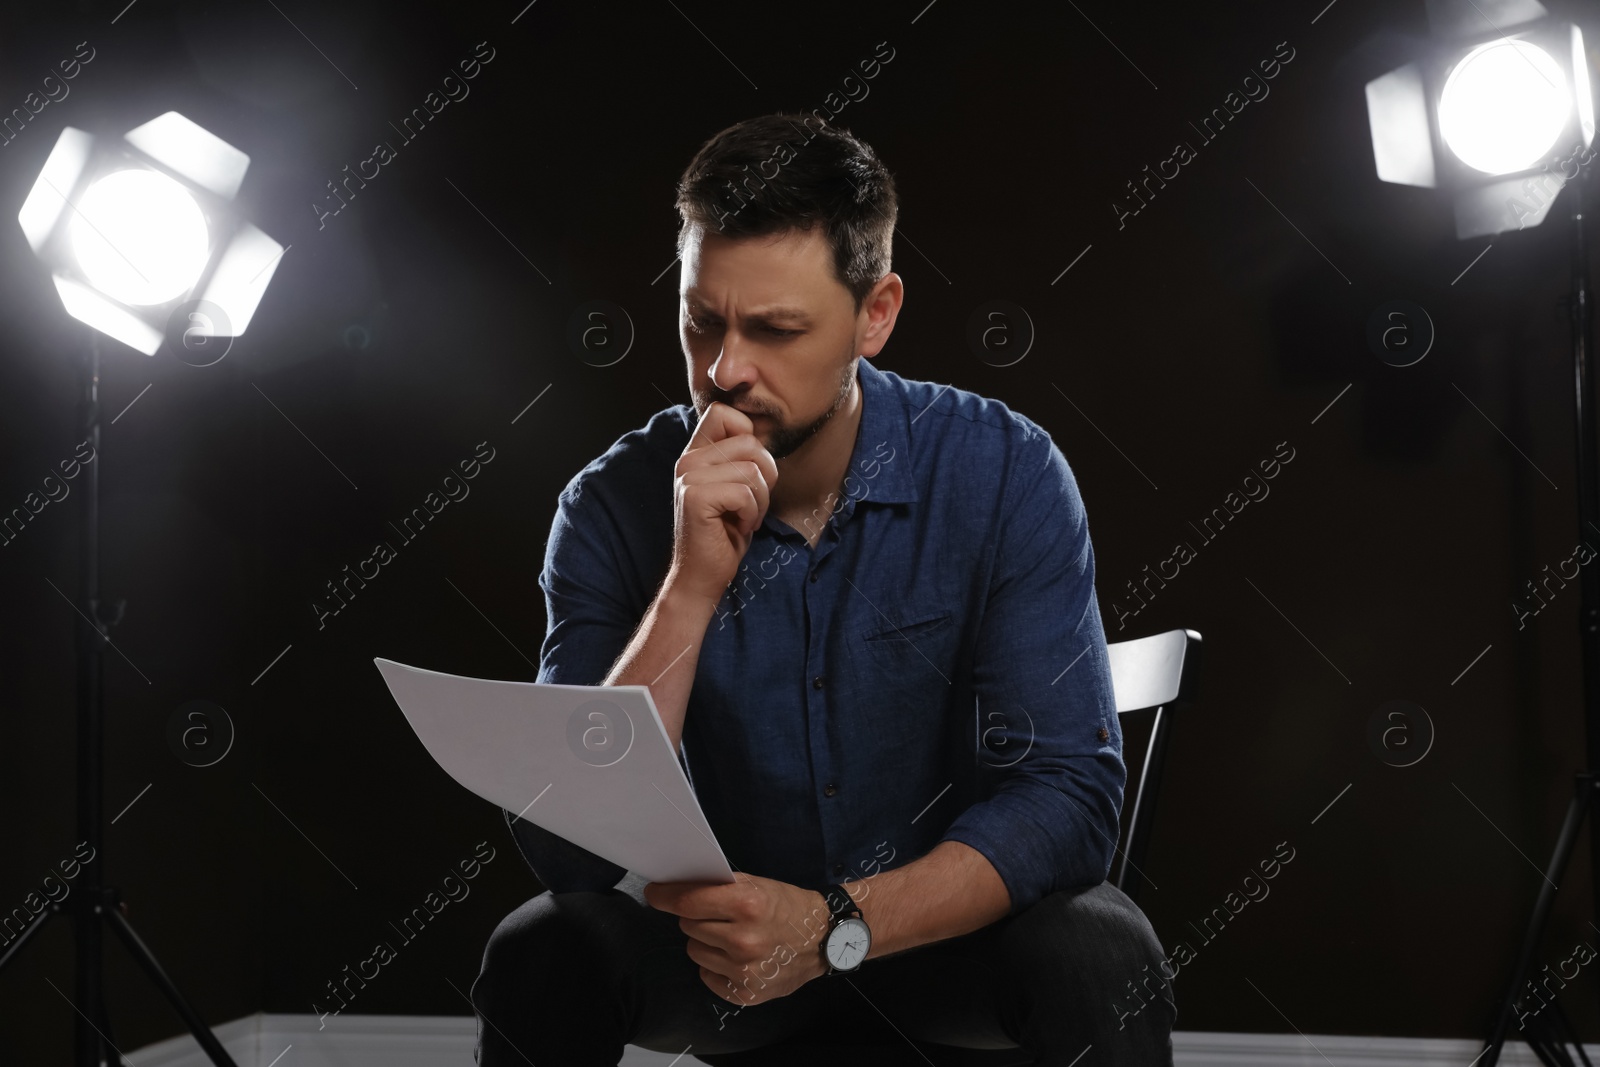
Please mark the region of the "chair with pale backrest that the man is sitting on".
[[[1194, 630], [1168, 630], [1128, 641], [1107, 645], [1110, 681], [1117, 694], [1117, 713], [1155, 710], [1150, 742], [1144, 750], [1144, 769], [1133, 795], [1133, 816], [1123, 837], [1123, 862], [1114, 885], [1134, 899], [1142, 875], [1130, 880], [1130, 867], [1139, 872], [1155, 824], [1155, 797], [1162, 784], [1162, 765], [1171, 737], [1173, 710], [1195, 697], [1200, 678], [1200, 635]], [[850, 1046], [822, 1041], [790, 1041], [744, 1053], [707, 1053], [694, 1059], [714, 1067], [1027, 1067], [1035, 1062], [1021, 1048], [955, 1048], [928, 1041], [885, 1040]]]

